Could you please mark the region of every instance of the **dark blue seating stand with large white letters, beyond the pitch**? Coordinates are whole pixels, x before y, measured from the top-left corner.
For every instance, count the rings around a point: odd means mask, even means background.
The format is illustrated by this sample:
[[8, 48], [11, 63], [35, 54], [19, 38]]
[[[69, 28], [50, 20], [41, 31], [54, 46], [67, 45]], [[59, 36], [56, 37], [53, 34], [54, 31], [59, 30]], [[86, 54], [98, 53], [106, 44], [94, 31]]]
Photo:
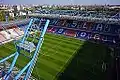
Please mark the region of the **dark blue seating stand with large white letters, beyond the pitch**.
[[[97, 41], [107, 45], [116, 46], [119, 41], [120, 25], [92, 21], [77, 21], [67, 19], [50, 19], [47, 29], [49, 33], [61, 34], [78, 39]], [[25, 26], [21, 26], [25, 30]], [[117, 44], [118, 45], [118, 44]]]

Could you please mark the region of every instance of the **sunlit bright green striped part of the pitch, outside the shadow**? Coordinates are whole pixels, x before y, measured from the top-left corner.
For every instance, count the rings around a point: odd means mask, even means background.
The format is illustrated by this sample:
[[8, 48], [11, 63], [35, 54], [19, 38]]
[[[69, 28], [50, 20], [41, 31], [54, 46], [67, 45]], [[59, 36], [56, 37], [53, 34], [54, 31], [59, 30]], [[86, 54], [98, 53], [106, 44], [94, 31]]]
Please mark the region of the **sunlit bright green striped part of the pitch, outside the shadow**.
[[[35, 66], [38, 76], [35, 71], [33, 72], [33, 75], [36, 75], [36, 77], [42, 77], [42, 79], [44, 80], [53, 80], [57, 73], [61, 71], [67, 61], [74, 54], [76, 48], [80, 47], [82, 44], [83, 41], [81, 42], [74, 38], [46, 34], [40, 52], [44, 54], [40, 54]], [[51, 48], [52, 46], [53, 48]], [[6, 53], [6, 50], [8, 50], [9, 53], [15, 50], [13, 42], [5, 44], [5, 47], [6, 48], [3, 48], [3, 52]], [[9, 49], [7, 49], [7, 47]], [[48, 54], [50, 54], [50, 56], [47, 56]], [[28, 60], [27, 58], [23, 58], [22, 56], [20, 56], [19, 61], [19, 63], [17, 62], [17, 66], [21, 68], [27, 63]]]

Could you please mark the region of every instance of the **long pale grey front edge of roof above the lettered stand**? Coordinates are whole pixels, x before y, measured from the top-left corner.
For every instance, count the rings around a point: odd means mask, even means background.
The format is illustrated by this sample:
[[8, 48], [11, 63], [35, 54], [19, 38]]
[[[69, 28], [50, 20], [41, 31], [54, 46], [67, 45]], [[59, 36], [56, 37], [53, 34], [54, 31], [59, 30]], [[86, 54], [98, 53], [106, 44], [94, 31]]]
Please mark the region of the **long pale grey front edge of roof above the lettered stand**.
[[59, 19], [81, 20], [81, 21], [93, 21], [93, 22], [108, 23], [108, 24], [120, 24], [120, 20], [114, 18], [93, 18], [93, 17], [83, 17], [83, 16], [39, 14], [39, 13], [29, 14], [28, 16], [37, 17], [37, 18], [59, 18]]

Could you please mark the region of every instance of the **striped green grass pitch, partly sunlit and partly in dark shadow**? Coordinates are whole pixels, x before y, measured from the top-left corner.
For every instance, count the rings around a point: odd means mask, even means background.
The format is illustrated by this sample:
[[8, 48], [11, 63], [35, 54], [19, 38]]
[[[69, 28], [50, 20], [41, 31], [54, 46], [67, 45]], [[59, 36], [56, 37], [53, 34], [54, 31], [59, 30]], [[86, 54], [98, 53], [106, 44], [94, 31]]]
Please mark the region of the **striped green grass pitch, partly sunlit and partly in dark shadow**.
[[[0, 46], [0, 58], [15, 52], [13, 42]], [[105, 80], [102, 61], [109, 63], [109, 49], [103, 45], [46, 34], [33, 71], [38, 80]], [[17, 67], [28, 62], [19, 57]]]

